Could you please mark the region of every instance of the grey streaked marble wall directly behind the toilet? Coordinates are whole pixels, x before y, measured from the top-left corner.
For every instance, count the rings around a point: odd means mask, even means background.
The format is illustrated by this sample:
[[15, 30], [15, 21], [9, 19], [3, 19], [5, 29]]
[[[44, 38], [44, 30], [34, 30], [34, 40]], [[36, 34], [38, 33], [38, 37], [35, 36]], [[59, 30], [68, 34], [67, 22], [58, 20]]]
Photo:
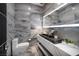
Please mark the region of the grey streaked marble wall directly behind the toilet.
[[28, 4], [15, 4], [15, 35], [19, 37], [19, 43], [26, 42], [31, 35], [31, 19]]

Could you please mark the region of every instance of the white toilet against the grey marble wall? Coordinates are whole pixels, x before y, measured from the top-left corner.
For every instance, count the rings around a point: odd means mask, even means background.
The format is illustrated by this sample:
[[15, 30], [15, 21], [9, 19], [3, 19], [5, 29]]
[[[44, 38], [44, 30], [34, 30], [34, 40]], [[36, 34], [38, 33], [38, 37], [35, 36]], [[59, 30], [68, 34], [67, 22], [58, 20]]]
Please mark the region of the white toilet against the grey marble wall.
[[18, 44], [18, 38], [15, 38], [12, 41], [12, 51], [14, 56], [19, 56], [24, 54], [28, 47], [29, 47], [29, 42], [23, 42]]

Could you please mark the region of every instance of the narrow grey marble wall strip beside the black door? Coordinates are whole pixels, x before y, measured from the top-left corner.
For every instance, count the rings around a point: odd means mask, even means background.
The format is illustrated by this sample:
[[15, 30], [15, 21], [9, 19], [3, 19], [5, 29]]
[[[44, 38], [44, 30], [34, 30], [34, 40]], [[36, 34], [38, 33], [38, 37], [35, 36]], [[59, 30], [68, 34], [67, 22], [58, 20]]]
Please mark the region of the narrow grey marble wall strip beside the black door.
[[11, 40], [14, 38], [15, 5], [7, 4], [7, 55], [11, 55]]

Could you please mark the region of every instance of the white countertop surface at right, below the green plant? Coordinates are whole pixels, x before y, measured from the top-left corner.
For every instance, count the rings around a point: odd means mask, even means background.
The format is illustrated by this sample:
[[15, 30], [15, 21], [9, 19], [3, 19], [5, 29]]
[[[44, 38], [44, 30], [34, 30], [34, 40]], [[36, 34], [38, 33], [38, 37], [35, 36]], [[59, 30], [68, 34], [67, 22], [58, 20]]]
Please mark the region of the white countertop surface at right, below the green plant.
[[68, 53], [69, 55], [75, 56], [79, 55], [79, 47], [73, 44], [67, 44], [67, 43], [59, 43], [59, 44], [54, 44], [56, 47], [59, 49], [63, 50], [64, 52]]

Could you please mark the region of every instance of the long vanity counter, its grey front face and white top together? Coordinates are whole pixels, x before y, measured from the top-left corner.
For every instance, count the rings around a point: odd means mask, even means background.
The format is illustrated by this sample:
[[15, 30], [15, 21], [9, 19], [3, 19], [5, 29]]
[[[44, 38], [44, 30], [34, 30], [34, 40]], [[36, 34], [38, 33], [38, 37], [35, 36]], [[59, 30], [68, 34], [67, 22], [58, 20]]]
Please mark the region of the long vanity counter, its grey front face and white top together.
[[[61, 53], [67, 53], [68, 55], [71, 56], [76, 56], [79, 55], [79, 47], [73, 44], [67, 44], [65, 42], [62, 43], [58, 43], [58, 44], [54, 44], [48, 40], [46, 40], [45, 38], [41, 37], [40, 35], [38, 35], [38, 40], [50, 51], [50, 53], [55, 54], [55, 49], [60, 49], [63, 52], [61, 52], [60, 50], [58, 52]], [[57, 48], [55, 48], [57, 47]], [[56, 54], [57, 55], [57, 54]], [[59, 54], [58, 54], [59, 55]], [[63, 54], [62, 54], [63, 55]]]

